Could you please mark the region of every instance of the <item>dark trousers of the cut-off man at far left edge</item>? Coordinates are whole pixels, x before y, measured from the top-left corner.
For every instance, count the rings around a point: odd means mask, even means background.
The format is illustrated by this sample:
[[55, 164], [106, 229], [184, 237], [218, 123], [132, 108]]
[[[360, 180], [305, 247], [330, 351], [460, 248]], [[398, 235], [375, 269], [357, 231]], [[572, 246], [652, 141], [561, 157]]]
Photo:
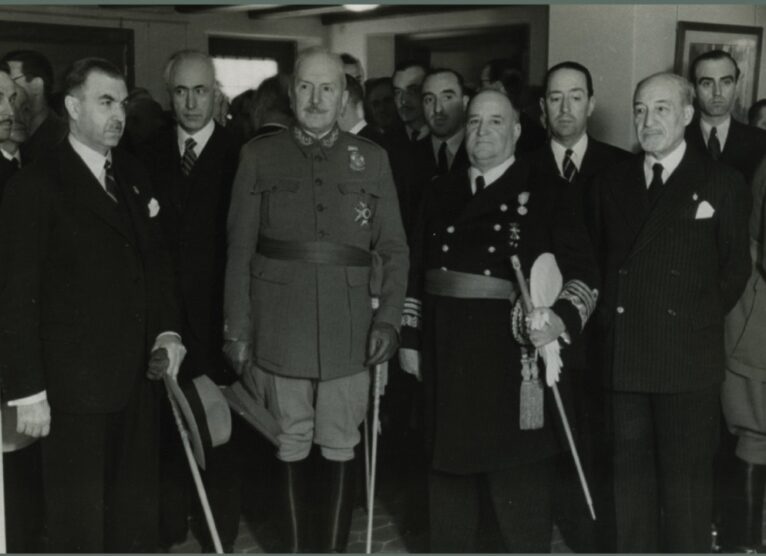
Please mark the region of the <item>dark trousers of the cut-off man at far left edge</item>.
[[5, 540], [9, 553], [40, 552], [43, 549], [40, 465], [40, 442], [3, 454]]

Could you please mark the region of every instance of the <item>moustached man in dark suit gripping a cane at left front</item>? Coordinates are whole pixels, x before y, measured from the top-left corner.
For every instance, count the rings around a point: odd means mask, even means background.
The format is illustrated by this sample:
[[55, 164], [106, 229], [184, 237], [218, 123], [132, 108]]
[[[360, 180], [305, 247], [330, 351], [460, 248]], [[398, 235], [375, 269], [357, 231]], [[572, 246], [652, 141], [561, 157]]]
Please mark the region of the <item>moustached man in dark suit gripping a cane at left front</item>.
[[[114, 146], [125, 80], [85, 58], [67, 74], [70, 134], [8, 184], [0, 329], [18, 430], [43, 440], [53, 552], [151, 552], [156, 426], [149, 381], [183, 359], [168, 259], [142, 166]], [[150, 353], [151, 361], [150, 361]], [[50, 433], [50, 434], [49, 434]]]

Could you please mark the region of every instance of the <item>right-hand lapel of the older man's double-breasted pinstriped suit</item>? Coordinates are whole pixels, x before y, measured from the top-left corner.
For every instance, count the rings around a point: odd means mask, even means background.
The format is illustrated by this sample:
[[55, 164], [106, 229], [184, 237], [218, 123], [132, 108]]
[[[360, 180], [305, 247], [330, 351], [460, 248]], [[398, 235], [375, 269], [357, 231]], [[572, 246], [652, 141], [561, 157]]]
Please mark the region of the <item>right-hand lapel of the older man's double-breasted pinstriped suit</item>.
[[665, 182], [665, 191], [657, 199], [657, 203], [649, 212], [649, 216], [641, 229], [631, 256], [647, 246], [662, 230], [668, 227], [678, 217], [678, 212], [684, 202], [688, 202], [693, 190], [704, 181], [704, 164], [694, 151], [687, 147], [681, 164]]

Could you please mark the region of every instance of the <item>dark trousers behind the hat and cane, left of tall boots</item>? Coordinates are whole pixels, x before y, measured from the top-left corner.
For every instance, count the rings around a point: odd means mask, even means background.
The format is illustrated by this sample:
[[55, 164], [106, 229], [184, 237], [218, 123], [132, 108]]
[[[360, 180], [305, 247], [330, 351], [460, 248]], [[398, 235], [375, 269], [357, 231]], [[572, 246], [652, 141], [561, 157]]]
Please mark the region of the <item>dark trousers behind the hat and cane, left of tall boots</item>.
[[[188, 534], [188, 516], [194, 518], [194, 533], [205, 548], [212, 550], [191, 470], [181, 444], [178, 428], [167, 399], [162, 402], [162, 448], [160, 464], [160, 540], [164, 546], [182, 542]], [[229, 442], [205, 452], [205, 469], [200, 469], [216, 529], [224, 548], [237, 539], [242, 490], [241, 421], [232, 416]]]

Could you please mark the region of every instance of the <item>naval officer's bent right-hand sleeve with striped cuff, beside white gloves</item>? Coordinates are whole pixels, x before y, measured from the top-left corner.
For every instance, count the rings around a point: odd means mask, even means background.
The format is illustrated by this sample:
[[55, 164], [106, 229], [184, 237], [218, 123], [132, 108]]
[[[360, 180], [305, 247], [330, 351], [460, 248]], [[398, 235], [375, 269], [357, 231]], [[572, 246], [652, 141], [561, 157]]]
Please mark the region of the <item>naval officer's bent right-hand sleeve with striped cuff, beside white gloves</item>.
[[551, 221], [556, 260], [564, 280], [552, 308], [575, 340], [596, 308], [598, 270], [583, 221], [582, 190], [563, 180], [551, 185], [559, 189], [552, 201]]

